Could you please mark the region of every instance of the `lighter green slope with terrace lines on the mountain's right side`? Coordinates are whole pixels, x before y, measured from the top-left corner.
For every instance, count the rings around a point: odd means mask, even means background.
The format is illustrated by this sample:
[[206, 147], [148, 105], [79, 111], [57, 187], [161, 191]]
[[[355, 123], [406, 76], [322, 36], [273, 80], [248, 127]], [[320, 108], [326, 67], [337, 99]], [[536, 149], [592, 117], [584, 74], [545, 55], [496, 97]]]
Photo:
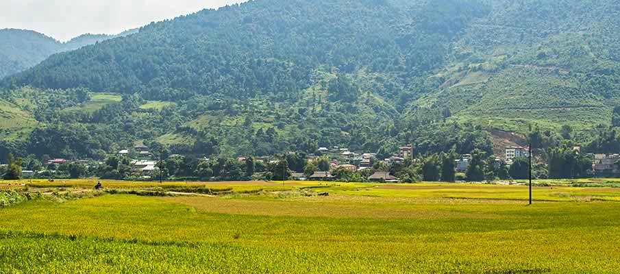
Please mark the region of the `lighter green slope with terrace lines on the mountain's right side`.
[[454, 59], [411, 103], [523, 130], [608, 125], [620, 104], [618, 1], [491, 1], [454, 42]]

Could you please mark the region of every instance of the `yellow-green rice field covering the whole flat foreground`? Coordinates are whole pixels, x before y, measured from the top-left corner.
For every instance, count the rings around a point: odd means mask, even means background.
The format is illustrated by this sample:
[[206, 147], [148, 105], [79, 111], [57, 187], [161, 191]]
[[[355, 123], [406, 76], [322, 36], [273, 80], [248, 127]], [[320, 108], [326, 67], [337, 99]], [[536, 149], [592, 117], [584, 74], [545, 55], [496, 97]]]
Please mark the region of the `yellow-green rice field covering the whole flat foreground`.
[[[90, 191], [93, 180], [3, 182]], [[10, 185], [9, 185], [10, 184]], [[22, 185], [24, 184], [24, 185]], [[0, 273], [617, 273], [620, 188], [114, 182], [0, 208]], [[223, 190], [202, 195], [195, 189]], [[225, 191], [224, 191], [225, 190]], [[329, 192], [319, 196], [317, 192]]]

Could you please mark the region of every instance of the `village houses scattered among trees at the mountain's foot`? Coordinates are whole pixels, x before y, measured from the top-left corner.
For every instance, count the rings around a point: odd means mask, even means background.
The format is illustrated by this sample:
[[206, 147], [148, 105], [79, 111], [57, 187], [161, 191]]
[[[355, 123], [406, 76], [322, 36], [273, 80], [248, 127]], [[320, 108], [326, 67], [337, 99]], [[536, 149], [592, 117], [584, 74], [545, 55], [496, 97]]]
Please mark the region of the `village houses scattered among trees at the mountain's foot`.
[[[581, 152], [581, 147], [574, 147], [575, 153]], [[288, 152], [284, 155], [297, 155], [295, 152]], [[167, 158], [184, 157], [182, 155], [166, 155], [166, 158], [161, 153], [153, 153], [149, 150], [149, 147], [144, 144], [135, 145], [132, 148], [122, 149], [116, 153], [119, 159], [129, 160], [129, 167], [132, 174], [137, 177], [132, 179], [151, 180], [158, 179], [160, 177], [160, 162], [165, 162]], [[620, 154], [593, 154], [590, 155], [593, 159], [591, 167], [592, 177], [620, 177]], [[356, 153], [350, 151], [347, 148], [341, 147], [319, 147], [316, 153], [303, 155], [307, 164], [303, 164], [302, 167], [297, 169], [286, 167], [285, 171], [288, 171], [286, 175], [277, 175], [278, 171], [272, 171], [273, 174], [266, 176], [268, 168], [258, 166], [277, 166], [282, 160], [282, 156], [272, 157], [239, 157], [236, 160], [240, 166], [246, 164], [251, 158], [252, 164], [256, 164], [256, 168], [253, 168], [251, 176], [247, 176], [243, 179], [294, 179], [299, 181], [330, 181], [343, 179], [342, 176], [338, 176], [338, 171], [345, 171], [347, 173], [358, 173], [362, 175], [359, 179], [364, 182], [403, 182], [403, 178], [398, 177], [395, 174], [393, 166], [404, 163], [415, 163], [421, 161], [419, 155], [416, 155], [416, 151], [413, 145], [406, 145], [399, 148], [399, 151], [389, 158], [382, 160], [377, 159], [377, 153]], [[493, 169], [510, 169], [513, 161], [517, 159], [527, 160], [529, 157], [529, 151], [527, 147], [511, 146], [504, 149], [504, 155], [501, 158], [491, 158]], [[536, 160], [536, 158], [534, 158]], [[197, 158], [199, 162], [211, 161], [209, 158]], [[319, 163], [320, 161], [323, 164]], [[327, 163], [325, 163], [327, 162]], [[471, 154], [458, 155], [458, 158], [454, 160], [454, 173], [456, 173], [456, 181], [467, 181], [464, 177], [464, 173], [467, 172], [472, 162]], [[62, 175], [58, 175], [58, 171], [69, 169], [69, 164], [75, 164], [83, 166], [86, 170], [101, 169], [101, 166], [106, 162], [95, 162], [92, 160], [66, 160], [62, 158], [44, 159], [42, 165], [36, 170], [28, 169], [28, 166], [23, 166], [21, 171], [21, 177], [23, 179], [29, 178], [62, 178]], [[30, 165], [32, 166], [32, 164]], [[314, 166], [314, 169], [307, 169], [307, 166]], [[243, 167], [242, 167], [243, 168]], [[0, 169], [6, 169], [5, 164], [0, 164]], [[165, 167], [164, 167], [165, 169]], [[280, 169], [282, 170], [282, 168]], [[162, 179], [171, 179], [173, 176], [171, 171]], [[341, 172], [340, 172], [341, 173]], [[461, 175], [459, 175], [461, 174]], [[80, 176], [97, 175], [95, 172], [84, 172]], [[66, 176], [66, 175], [65, 175]], [[122, 179], [122, 178], [121, 178]], [[216, 180], [218, 177], [201, 177], [205, 180]], [[236, 179], [236, 178], [233, 178]], [[522, 179], [522, 178], [515, 178]], [[546, 179], [546, 178], [545, 178]]]

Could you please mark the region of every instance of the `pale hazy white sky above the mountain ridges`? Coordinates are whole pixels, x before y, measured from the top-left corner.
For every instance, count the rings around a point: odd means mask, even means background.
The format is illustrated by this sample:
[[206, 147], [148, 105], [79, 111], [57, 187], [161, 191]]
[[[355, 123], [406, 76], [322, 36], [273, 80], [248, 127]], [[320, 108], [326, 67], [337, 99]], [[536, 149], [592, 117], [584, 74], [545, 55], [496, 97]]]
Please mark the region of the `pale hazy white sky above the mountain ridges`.
[[118, 34], [203, 8], [247, 0], [0, 0], [0, 29], [32, 29], [58, 40]]

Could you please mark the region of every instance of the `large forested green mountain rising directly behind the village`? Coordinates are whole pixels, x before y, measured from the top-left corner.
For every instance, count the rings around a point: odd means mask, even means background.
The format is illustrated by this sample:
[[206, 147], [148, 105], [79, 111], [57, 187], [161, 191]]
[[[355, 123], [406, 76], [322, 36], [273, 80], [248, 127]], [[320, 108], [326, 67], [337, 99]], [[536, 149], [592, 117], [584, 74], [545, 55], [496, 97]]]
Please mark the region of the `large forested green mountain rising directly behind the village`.
[[619, 15], [618, 0], [257, 0], [53, 55], [3, 86], [38, 121], [12, 139], [36, 153], [491, 151], [491, 129], [610, 124]]

